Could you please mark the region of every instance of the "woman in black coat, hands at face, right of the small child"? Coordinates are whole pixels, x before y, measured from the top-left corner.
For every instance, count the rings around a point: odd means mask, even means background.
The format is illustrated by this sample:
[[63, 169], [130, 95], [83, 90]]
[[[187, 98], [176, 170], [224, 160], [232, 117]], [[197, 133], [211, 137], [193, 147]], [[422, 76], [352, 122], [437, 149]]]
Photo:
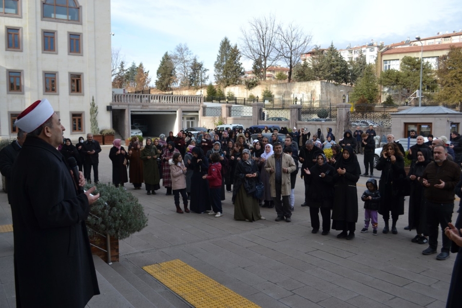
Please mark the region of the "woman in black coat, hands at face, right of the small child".
[[392, 217], [392, 233], [397, 234], [396, 222], [399, 215], [404, 214], [404, 196], [399, 190], [405, 185], [403, 153], [396, 143], [387, 143], [380, 153], [376, 169], [382, 171], [379, 180], [380, 206], [378, 213], [382, 215], [385, 226], [383, 233], [388, 233], [390, 212]]

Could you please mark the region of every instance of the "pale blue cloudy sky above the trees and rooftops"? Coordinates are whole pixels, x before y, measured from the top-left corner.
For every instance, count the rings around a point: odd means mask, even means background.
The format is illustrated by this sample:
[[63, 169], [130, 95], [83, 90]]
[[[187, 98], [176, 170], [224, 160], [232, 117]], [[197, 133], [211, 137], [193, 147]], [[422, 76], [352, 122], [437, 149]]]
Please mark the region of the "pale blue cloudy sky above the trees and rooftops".
[[[240, 28], [269, 14], [283, 24], [297, 23], [322, 48], [331, 41], [337, 49], [371, 40], [387, 45], [462, 29], [460, 0], [111, 0], [112, 47], [121, 49], [128, 64], [143, 62], [154, 84], [162, 55], [187, 44], [213, 81], [222, 38], [239, 45]], [[241, 60], [250, 70], [252, 63]]]

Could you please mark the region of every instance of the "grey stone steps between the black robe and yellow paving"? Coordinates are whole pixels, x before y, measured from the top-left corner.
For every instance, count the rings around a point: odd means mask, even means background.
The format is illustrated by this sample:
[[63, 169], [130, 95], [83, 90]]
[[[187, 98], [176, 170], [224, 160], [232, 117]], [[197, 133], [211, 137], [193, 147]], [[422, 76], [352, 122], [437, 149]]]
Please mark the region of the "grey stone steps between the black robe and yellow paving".
[[127, 260], [106, 264], [93, 256], [101, 295], [94, 296], [90, 308], [192, 307], [143, 269]]

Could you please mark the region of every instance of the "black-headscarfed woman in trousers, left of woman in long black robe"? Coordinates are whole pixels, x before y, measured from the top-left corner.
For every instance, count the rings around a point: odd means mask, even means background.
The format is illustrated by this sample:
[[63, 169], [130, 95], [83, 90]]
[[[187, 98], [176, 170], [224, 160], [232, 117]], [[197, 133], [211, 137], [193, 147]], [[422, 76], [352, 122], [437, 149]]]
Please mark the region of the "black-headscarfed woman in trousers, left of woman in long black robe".
[[318, 233], [319, 210], [322, 217], [322, 235], [328, 235], [331, 230], [331, 208], [334, 204], [334, 174], [335, 168], [328, 164], [323, 153], [318, 153], [317, 164], [303, 171], [306, 174], [306, 183], [310, 185], [307, 197], [310, 198], [310, 218], [313, 230]]

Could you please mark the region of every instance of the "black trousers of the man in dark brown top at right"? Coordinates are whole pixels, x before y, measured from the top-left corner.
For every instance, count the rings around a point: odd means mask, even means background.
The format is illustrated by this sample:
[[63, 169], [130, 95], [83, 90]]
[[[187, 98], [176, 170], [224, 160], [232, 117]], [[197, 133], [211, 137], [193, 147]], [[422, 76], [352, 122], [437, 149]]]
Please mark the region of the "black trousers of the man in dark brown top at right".
[[428, 244], [436, 249], [438, 246], [438, 225], [441, 226], [441, 252], [449, 253], [451, 240], [445, 235], [445, 228], [451, 222], [454, 203], [433, 203], [427, 200]]

